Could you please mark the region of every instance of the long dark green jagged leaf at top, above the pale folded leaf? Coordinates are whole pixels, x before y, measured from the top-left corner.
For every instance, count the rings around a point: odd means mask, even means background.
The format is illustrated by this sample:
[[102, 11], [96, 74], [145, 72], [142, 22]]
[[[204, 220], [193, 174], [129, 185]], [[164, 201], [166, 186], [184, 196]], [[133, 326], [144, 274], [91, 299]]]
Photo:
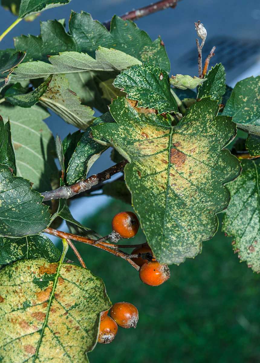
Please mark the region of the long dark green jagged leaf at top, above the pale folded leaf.
[[[161, 38], [154, 42], [147, 33], [137, 28], [131, 20], [118, 16], [112, 19], [111, 32], [85, 12], [71, 12], [69, 34], [62, 24], [49, 20], [41, 23], [41, 35], [15, 38], [17, 50], [28, 51], [27, 61], [46, 61], [47, 56], [74, 50], [94, 57], [99, 46], [114, 48], [139, 61], [155, 64], [170, 72], [170, 61]], [[67, 47], [67, 48], [66, 48]]]

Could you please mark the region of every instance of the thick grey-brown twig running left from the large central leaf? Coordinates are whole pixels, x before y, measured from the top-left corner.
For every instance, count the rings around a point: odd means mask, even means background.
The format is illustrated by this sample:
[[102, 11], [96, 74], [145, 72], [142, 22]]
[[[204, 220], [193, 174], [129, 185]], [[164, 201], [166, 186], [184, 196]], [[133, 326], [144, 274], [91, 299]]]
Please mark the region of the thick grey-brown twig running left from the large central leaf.
[[110, 179], [112, 175], [123, 171], [127, 163], [127, 160], [123, 160], [120, 163], [111, 166], [111, 168], [108, 168], [101, 173], [91, 175], [89, 178], [81, 180], [76, 184], [70, 185], [69, 187], [63, 185], [58, 189], [41, 193], [41, 195], [44, 197], [43, 201], [53, 199], [69, 199], [76, 194], [89, 190], [93, 187], [93, 185], [102, 183], [102, 181]]

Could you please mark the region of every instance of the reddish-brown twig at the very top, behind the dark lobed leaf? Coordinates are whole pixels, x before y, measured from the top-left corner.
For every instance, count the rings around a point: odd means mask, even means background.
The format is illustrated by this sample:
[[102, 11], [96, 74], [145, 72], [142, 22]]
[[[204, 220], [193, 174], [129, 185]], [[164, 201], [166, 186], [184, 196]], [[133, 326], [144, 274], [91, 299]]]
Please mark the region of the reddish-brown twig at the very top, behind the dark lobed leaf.
[[[160, 10], [164, 10], [164, 9], [167, 9], [167, 8], [175, 8], [178, 1], [181, 1], [181, 0], [161, 0], [161, 1], [157, 1], [157, 3], [150, 4], [148, 6], [145, 6], [144, 8], [129, 11], [128, 13], [125, 13], [124, 15], [121, 15], [120, 18], [123, 19], [123, 20], [130, 19], [130, 20], [135, 21], [137, 19], [140, 19], [141, 17], [144, 17], [146, 15], [150, 15], [150, 14], [155, 13], [155, 12], [160, 11]], [[111, 23], [111, 20], [108, 20], [108, 21], [105, 21], [103, 23], [103, 25], [106, 26], [106, 28], [108, 30], [110, 30], [110, 23]]]

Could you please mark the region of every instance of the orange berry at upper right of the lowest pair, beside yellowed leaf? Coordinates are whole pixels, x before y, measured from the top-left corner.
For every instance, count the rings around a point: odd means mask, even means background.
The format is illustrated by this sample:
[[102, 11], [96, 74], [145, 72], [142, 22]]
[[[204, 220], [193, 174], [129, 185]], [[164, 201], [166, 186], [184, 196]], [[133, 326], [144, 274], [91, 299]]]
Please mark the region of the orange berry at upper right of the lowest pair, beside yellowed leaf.
[[138, 322], [138, 310], [129, 302], [117, 302], [110, 310], [111, 318], [122, 328], [135, 328]]

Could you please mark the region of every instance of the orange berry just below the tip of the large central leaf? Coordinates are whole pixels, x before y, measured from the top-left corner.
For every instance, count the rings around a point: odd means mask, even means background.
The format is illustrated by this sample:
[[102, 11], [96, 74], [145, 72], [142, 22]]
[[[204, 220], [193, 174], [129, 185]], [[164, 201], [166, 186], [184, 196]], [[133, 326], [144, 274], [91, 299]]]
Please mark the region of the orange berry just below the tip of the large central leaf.
[[166, 264], [158, 261], [145, 262], [140, 267], [139, 276], [146, 285], [159, 286], [170, 277], [170, 270]]

